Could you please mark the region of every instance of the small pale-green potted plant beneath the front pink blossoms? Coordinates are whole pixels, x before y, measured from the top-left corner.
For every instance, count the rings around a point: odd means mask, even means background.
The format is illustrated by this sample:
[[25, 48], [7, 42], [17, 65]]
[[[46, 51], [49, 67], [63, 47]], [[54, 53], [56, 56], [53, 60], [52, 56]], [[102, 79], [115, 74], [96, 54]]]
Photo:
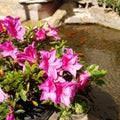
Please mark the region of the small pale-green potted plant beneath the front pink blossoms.
[[83, 95], [76, 95], [72, 104], [60, 112], [60, 120], [79, 120], [90, 111], [90, 101]]

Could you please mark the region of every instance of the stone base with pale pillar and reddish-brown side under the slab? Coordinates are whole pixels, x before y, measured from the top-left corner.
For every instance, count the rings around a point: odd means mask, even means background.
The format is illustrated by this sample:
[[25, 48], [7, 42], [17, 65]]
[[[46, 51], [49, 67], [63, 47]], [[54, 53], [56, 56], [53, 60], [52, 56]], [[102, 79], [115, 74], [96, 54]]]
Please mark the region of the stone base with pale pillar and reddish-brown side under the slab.
[[30, 20], [40, 20], [50, 17], [61, 5], [61, 0], [54, 0], [52, 2], [40, 3], [40, 4], [21, 4], [23, 5], [26, 18]]

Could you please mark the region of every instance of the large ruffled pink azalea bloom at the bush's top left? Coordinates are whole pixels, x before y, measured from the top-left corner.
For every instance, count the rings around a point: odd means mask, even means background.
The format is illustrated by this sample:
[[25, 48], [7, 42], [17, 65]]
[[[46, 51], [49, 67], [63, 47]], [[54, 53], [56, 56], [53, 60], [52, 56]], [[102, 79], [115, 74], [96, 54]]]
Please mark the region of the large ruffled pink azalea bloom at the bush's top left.
[[25, 34], [25, 28], [21, 26], [19, 17], [13, 18], [11, 16], [7, 16], [4, 19], [3, 24], [12, 37], [23, 41], [24, 39], [23, 36]]

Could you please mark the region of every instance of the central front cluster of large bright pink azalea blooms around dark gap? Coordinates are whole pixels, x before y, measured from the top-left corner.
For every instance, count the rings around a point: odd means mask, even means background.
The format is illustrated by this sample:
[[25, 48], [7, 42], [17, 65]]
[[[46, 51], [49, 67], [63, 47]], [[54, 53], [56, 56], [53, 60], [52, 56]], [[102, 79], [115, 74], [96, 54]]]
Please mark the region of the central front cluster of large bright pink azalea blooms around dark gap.
[[[55, 104], [69, 106], [78, 89], [84, 90], [89, 79], [88, 71], [78, 75], [77, 71], [82, 68], [78, 62], [78, 57], [73, 54], [72, 49], [66, 48], [66, 53], [62, 54], [62, 59], [56, 58], [56, 51], [41, 51], [42, 61], [40, 68], [47, 74], [47, 79], [39, 88], [42, 89], [41, 100], [52, 100]], [[72, 76], [70, 81], [64, 78], [64, 72], [69, 72]]]

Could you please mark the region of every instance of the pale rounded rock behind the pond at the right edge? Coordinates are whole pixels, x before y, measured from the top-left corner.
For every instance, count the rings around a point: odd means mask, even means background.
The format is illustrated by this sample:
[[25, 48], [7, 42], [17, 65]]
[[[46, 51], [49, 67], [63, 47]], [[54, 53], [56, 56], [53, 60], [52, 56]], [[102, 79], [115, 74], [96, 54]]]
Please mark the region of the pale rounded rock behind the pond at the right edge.
[[96, 19], [98, 24], [120, 30], [120, 16], [113, 12], [105, 12], [101, 7], [92, 7], [90, 14]]

